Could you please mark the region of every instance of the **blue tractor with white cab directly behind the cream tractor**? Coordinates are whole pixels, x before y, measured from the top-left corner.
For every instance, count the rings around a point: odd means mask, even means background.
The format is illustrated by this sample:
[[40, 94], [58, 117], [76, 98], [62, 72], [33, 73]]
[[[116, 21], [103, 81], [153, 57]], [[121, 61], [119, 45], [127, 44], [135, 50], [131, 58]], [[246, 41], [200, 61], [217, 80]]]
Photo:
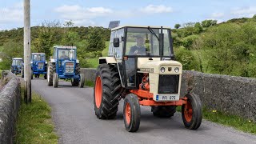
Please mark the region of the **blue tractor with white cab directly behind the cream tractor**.
[[72, 86], [84, 86], [85, 77], [80, 74], [76, 46], [54, 46], [54, 56], [47, 68], [48, 86], [58, 87], [58, 78], [70, 79]]

